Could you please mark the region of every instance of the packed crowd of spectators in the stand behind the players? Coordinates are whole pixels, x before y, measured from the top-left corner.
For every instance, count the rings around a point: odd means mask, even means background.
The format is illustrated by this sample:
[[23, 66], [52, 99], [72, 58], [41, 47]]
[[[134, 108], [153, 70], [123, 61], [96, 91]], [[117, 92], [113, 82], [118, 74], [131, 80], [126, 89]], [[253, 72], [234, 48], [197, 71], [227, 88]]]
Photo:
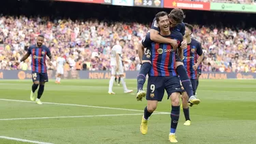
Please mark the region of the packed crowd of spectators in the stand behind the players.
[[[29, 58], [18, 68], [14, 62], [25, 55], [27, 48], [35, 44], [35, 37], [43, 33], [46, 46], [51, 49], [54, 62], [48, 63], [55, 69], [57, 56], [65, 54], [70, 68], [76, 70], [109, 70], [109, 52], [119, 39], [126, 40], [123, 48], [125, 70], [139, 70], [137, 57], [139, 42], [150, 25], [139, 23], [108, 24], [70, 19], [49, 20], [47, 17], [1, 16], [0, 18], [0, 69], [31, 70]], [[256, 30], [232, 31], [210, 29], [195, 25], [193, 38], [202, 43], [205, 52], [203, 71], [206, 72], [256, 72]]]

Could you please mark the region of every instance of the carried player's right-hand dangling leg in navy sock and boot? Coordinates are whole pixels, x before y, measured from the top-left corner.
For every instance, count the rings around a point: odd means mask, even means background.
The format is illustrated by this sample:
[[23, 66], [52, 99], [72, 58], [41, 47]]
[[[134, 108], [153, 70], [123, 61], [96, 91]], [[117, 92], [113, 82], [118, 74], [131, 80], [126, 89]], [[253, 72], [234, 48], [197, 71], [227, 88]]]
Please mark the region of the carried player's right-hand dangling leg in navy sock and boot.
[[182, 85], [186, 90], [186, 92], [188, 93], [189, 102], [191, 102], [192, 104], [199, 104], [200, 100], [196, 98], [195, 95], [193, 94], [192, 84], [190, 82], [190, 79], [188, 78], [188, 74], [182, 62], [176, 61], [176, 71], [177, 71], [177, 74], [180, 75], [180, 80], [182, 81]]

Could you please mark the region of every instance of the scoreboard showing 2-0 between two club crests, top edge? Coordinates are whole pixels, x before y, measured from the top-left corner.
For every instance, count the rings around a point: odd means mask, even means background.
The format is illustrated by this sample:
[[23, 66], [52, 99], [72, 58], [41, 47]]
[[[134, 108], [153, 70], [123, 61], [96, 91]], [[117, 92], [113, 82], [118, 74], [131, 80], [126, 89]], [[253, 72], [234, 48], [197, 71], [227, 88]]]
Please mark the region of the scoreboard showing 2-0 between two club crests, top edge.
[[162, 8], [163, 0], [134, 0], [134, 6]]

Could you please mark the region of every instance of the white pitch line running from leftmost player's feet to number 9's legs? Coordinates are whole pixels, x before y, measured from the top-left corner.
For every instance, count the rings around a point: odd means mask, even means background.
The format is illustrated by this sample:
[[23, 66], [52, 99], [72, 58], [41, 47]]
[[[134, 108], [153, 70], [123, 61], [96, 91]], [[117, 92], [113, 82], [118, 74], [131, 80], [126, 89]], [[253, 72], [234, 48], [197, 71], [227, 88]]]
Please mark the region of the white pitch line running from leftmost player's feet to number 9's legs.
[[[11, 100], [11, 99], [3, 99], [3, 98], [0, 98], [0, 100], [10, 101], [10, 102], [31, 102], [31, 101], [27, 101], [27, 100]], [[98, 108], [98, 109], [115, 109], [115, 110], [122, 110], [122, 111], [144, 112], [142, 110], [137, 110], [137, 109], [123, 109], [123, 108], [113, 108], [113, 107], [106, 107], [106, 106], [89, 106], [89, 105], [83, 105], [83, 104], [62, 104], [62, 103], [55, 103], [55, 102], [43, 102], [43, 103], [44, 104], [64, 105], [64, 106], [81, 106], [81, 107]], [[154, 111], [154, 113], [165, 113], [165, 114], [167, 114], [167, 112], [158, 112], [158, 111]]]

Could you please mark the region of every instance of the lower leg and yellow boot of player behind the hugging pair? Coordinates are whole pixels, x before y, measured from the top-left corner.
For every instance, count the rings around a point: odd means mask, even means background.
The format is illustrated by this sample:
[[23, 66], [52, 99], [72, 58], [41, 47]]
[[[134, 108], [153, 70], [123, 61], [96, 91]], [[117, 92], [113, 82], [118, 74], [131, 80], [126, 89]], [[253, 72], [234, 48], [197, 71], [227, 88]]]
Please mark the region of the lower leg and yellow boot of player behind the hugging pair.
[[188, 94], [186, 93], [186, 91], [182, 93], [182, 106], [183, 106], [184, 117], [186, 119], [184, 125], [190, 126], [191, 122], [190, 122], [189, 106], [188, 106]]

